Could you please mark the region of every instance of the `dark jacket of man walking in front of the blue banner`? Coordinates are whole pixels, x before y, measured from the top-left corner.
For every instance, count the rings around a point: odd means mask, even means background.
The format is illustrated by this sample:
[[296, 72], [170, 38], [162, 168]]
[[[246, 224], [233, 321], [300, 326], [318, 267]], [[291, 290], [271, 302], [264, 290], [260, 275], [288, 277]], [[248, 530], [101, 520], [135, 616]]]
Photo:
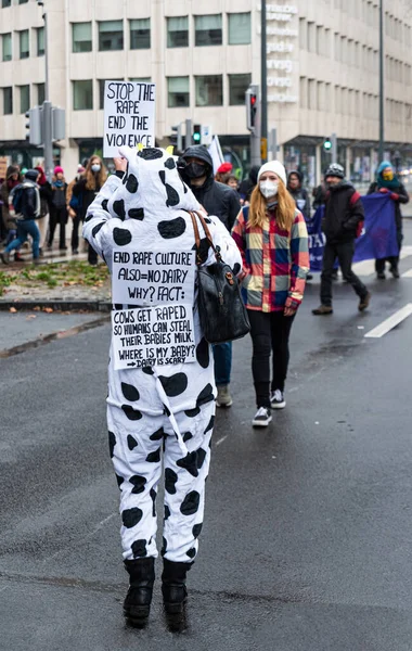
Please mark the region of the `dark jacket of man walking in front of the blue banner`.
[[364, 221], [361, 196], [345, 179], [327, 189], [322, 230], [330, 244], [351, 242], [358, 237], [359, 222]]

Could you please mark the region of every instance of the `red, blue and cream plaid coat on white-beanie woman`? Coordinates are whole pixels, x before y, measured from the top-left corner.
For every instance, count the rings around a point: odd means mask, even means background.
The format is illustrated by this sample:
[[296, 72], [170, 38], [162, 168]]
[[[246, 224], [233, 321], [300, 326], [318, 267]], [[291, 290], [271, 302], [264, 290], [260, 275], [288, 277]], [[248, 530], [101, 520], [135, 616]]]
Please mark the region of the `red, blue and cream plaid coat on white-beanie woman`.
[[263, 228], [248, 228], [249, 208], [242, 208], [232, 238], [242, 254], [242, 295], [247, 309], [265, 312], [297, 309], [304, 298], [309, 271], [308, 231], [304, 216], [295, 212], [292, 230], [282, 230], [270, 210]]

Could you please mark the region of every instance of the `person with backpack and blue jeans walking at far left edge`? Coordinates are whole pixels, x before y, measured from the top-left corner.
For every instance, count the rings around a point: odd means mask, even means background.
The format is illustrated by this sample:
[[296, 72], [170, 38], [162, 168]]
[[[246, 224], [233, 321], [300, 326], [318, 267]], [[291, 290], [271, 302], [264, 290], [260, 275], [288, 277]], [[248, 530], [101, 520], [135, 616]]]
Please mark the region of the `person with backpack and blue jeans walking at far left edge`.
[[10, 261], [10, 252], [22, 246], [27, 241], [28, 235], [33, 240], [33, 261], [39, 261], [40, 232], [35, 221], [40, 216], [40, 193], [37, 186], [39, 176], [37, 169], [28, 169], [23, 183], [16, 186], [11, 192], [11, 209], [13, 208], [13, 195], [16, 193], [21, 195], [18, 214], [16, 214], [17, 237], [0, 254], [4, 265]]

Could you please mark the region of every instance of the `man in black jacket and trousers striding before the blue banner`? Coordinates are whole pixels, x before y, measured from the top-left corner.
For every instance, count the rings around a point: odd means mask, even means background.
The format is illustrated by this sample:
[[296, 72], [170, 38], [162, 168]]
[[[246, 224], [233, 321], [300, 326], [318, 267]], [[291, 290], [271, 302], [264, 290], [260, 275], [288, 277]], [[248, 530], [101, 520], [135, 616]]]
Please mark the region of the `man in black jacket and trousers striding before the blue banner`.
[[369, 306], [371, 294], [352, 271], [355, 240], [360, 224], [364, 221], [364, 210], [360, 194], [349, 181], [345, 180], [342, 165], [332, 164], [325, 174], [326, 196], [322, 230], [326, 237], [323, 252], [323, 269], [321, 276], [321, 305], [312, 310], [313, 315], [332, 315], [332, 272], [335, 259], [345, 280], [358, 294], [358, 309], [363, 311]]

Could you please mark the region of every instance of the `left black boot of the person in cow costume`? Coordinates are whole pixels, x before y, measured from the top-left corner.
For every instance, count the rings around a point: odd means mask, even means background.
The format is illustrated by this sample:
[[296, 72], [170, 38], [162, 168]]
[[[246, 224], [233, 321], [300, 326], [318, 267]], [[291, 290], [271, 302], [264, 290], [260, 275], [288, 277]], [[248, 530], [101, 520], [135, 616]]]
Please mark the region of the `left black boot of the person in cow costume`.
[[124, 614], [132, 626], [142, 628], [147, 624], [151, 610], [154, 558], [125, 561], [125, 567], [129, 573], [130, 586], [123, 605]]

